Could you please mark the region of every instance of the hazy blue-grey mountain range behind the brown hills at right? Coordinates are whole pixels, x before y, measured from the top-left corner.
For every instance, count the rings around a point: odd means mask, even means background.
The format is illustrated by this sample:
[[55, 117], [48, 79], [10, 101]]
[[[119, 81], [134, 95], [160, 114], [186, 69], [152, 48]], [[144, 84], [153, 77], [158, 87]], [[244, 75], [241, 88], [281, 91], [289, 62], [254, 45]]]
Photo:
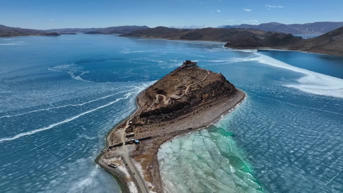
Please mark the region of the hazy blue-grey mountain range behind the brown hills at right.
[[281, 24], [277, 22], [249, 25], [242, 24], [237, 26], [219, 26], [218, 28], [241, 28], [241, 29], [256, 29], [270, 32], [281, 32], [286, 34], [324, 34], [343, 27], [343, 22], [314, 22], [307, 24]]

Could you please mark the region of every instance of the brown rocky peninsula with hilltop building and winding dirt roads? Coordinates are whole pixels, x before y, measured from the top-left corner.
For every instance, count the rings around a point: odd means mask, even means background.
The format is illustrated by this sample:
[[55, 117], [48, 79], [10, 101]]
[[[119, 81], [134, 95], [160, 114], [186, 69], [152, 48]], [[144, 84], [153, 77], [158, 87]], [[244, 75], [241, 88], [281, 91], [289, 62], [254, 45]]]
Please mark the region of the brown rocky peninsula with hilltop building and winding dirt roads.
[[163, 192], [159, 146], [211, 125], [244, 97], [222, 74], [186, 61], [138, 95], [136, 111], [108, 133], [96, 162], [119, 178], [123, 191]]

